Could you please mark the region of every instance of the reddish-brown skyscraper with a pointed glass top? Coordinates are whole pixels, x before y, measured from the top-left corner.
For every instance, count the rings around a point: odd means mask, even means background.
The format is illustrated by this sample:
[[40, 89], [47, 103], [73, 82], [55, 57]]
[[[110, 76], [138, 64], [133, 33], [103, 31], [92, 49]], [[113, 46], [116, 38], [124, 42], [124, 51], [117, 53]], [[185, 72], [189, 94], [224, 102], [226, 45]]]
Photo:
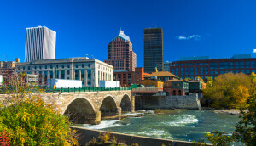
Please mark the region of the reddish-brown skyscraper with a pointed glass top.
[[113, 65], [114, 71], [135, 71], [136, 54], [132, 51], [130, 37], [120, 31], [108, 44], [108, 60], [105, 63]]

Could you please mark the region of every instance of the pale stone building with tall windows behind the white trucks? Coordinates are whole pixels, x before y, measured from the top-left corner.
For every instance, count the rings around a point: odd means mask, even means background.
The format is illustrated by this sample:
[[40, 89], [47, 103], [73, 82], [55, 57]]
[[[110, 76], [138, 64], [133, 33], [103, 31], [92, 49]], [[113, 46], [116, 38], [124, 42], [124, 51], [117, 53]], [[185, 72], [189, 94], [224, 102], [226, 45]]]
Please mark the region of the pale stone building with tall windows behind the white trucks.
[[87, 57], [68, 59], [42, 59], [17, 63], [17, 73], [39, 76], [39, 83], [47, 85], [47, 79], [82, 80], [84, 87], [98, 87], [99, 81], [113, 81], [113, 66]]

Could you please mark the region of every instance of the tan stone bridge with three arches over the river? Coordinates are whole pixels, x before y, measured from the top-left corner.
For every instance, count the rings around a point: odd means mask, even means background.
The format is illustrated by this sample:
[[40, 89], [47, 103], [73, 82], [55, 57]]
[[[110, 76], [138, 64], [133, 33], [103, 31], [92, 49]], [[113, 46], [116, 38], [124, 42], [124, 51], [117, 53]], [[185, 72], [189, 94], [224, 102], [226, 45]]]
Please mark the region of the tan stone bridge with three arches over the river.
[[131, 90], [81, 93], [43, 93], [46, 103], [55, 103], [73, 123], [99, 124], [102, 117], [134, 112]]

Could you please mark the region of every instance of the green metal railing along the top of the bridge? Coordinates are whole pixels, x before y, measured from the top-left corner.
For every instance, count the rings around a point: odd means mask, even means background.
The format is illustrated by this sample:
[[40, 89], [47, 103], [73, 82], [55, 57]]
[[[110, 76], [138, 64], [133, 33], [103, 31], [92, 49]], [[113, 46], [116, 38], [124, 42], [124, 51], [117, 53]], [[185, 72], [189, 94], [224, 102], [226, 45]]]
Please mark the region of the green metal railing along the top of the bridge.
[[[31, 87], [32, 92], [38, 92], [38, 89], [43, 89], [44, 93], [79, 93], [79, 92], [97, 92], [97, 91], [124, 91], [131, 90], [131, 87]], [[15, 90], [15, 87], [0, 87], [0, 94], [5, 94], [7, 91]]]

